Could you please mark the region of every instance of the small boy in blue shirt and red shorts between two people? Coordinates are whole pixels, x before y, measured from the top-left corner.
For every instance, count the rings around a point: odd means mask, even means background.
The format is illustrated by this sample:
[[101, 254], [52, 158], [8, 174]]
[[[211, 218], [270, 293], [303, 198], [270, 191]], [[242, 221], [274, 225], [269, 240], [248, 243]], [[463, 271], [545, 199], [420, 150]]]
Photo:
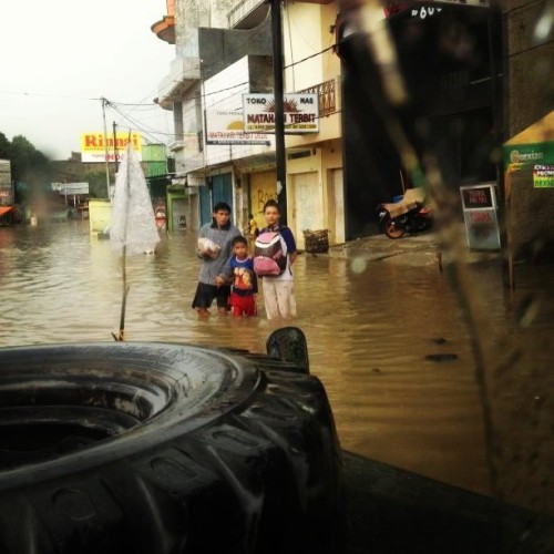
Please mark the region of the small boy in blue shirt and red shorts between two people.
[[238, 236], [232, 242], [233, 256], [229, 259], [232, 271], [230, 308], [233, 317], [256, 316], [256, 294], [258, 279], [254, 273], [254, 261], [248, 255], [248, 240]]

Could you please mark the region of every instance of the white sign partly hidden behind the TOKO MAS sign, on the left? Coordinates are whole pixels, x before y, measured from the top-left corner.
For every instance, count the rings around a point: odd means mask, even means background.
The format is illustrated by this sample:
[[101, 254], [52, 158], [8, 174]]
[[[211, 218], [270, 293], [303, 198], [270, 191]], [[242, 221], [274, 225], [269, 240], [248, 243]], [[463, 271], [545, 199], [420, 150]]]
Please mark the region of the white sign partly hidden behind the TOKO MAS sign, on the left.
[[245, 133], [243, 112], [206, 110], [206, 144], [264, 144], [267, 133]]

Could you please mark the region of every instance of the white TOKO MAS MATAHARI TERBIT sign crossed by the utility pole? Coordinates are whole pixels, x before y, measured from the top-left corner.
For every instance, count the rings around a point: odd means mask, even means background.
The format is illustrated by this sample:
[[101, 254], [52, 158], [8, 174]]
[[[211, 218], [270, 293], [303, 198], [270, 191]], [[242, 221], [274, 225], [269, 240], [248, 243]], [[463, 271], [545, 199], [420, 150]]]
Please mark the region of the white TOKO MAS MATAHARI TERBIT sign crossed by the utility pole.
[[[319, 98], [317, 94], [284, 94], [285, 134], [319, 132]], [[275, 96], [243, 94], [245, 133], [275, 133]]]

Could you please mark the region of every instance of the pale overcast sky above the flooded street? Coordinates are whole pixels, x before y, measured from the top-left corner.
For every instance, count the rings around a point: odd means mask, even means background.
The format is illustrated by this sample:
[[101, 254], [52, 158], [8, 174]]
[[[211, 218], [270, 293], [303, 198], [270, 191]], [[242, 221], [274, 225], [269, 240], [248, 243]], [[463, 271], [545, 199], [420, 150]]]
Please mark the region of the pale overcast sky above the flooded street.
[[105, 98], [122, 112], [105, 110], [109, 133], [115, 121], [171, 142], [172, 114], [153, 100], [175, 47], [150, 29], [165, 12], [165, 0], [0, 0], [0, 132], [66, 160], [82, 133], [103, 132]]

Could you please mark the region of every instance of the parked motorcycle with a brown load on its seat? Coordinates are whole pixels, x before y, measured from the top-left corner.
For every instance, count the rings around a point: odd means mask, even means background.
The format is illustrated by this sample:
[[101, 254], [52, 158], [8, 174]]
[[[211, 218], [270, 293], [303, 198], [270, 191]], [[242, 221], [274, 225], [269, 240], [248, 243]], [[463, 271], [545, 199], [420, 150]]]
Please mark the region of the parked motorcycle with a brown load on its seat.
[[425, 192], [409, 188], [402, 199], [379, 204], [379, 225], [389, 238], [401, 238], [406, 233], [416, 234], [433, 226], [432, 208], [424, 205]]

